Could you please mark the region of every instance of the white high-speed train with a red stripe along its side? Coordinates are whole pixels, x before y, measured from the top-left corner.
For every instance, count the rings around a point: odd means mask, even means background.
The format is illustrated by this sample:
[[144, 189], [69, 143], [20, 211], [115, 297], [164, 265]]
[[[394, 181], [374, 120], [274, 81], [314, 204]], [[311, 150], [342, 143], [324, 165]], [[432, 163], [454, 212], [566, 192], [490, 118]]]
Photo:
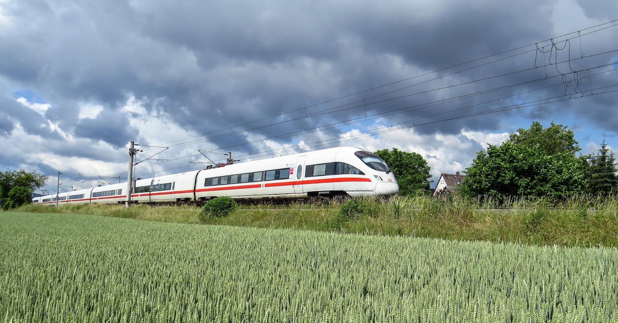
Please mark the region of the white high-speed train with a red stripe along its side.
[[[58, 205], [122, 203], [127, 183], [78, 189], [57, 195]], [[218, 196], [234, 199], [308, 199], [333, 196], [392, 196], [395, 176], [375, 154], [337, 147], [266, 158], [218, 168], [138, 179], [133, 203], [203, 202]], [[36, 197], [35, 204], [56, 205], [56, 194]]]

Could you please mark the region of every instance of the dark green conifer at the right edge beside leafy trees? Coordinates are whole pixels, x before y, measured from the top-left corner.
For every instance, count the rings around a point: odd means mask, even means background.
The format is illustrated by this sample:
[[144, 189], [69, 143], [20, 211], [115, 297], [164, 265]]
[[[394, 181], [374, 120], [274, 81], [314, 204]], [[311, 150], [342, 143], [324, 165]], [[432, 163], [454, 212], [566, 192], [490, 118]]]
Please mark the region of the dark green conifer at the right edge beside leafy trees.
[[616, 177], [616, 158], [607, 149], [605, 140], [596, 156], [590, 157], [590, 192], [592, 194], [609, 194], [618, 189]]

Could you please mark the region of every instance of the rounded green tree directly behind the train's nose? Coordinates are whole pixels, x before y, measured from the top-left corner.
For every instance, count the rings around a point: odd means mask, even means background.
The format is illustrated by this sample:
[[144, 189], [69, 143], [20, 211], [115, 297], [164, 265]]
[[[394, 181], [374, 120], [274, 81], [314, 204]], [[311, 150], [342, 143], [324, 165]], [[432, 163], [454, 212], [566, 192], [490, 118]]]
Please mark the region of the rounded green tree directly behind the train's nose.
[[383, 149], [375, 152], [392, 169], [397, 183], [399, 194], [410, 195], [430, 192], [429, 185], [432, 181], [427, 161], [419, 153], [403, 152], [399, 149]]

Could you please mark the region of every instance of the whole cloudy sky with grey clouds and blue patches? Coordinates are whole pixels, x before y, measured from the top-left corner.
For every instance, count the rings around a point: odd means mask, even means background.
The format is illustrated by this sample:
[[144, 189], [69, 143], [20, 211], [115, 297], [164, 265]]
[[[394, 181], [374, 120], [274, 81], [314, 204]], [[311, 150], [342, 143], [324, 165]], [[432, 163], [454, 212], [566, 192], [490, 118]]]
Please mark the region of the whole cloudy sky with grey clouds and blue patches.
[[142, 178], [198, 149], [333, 145], [438, 176], [535, 120], [618, 147], [615, 19], [616, 1], [0, 0], [0, 167], [90, 187], [126, 179], [135, 140], [170, 147]]

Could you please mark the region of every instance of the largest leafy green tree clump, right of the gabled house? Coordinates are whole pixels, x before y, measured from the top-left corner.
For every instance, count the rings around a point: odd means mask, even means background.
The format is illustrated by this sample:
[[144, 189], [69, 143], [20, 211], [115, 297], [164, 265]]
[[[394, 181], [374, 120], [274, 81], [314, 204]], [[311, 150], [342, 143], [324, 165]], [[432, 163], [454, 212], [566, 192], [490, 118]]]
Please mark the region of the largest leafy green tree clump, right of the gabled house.
[[546, 129], [535, 122], [519, 129], [502, 145], [481, 150], [466, 170], [467, 194], [506, 196], [556, 196], [580, 194], [588, 187], [586, 157], [572, 131], [552, 123]]

